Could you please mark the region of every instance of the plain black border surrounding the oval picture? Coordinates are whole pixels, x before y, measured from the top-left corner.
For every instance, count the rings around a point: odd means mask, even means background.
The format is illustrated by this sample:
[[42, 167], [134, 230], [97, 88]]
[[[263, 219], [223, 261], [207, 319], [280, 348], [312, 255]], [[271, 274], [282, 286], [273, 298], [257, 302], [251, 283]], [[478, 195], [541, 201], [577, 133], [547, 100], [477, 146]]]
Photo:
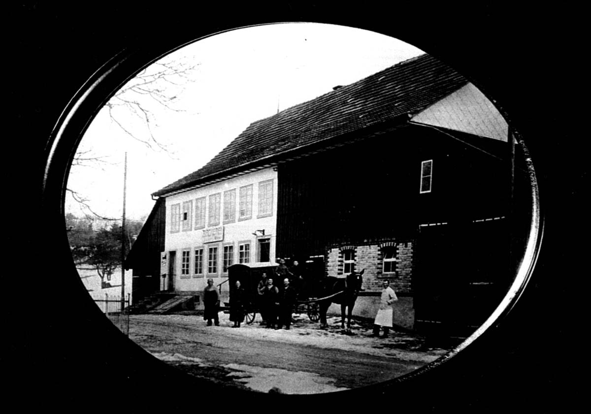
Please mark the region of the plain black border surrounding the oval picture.
[[[359, 403], [370, 410], [546, 411], [573, 402], [573, 362], [561, 355], [574, 350], [570, 338], [577, 312], [571, 305], [569, 276], [579, 274], [583, 249], [574, 236], [580, 226], [577, 217], [585, 214], [585, 167], [571, 162], [579, 158], [582, 144], [568, 120], [580, 79], [576, 10], [372, 2], [238, 7], [27, 2], [11, 6], [9, 19], [15, 48], [10, 49], [14, 57], [8, 62], [16, 65], [9, 66], [14, 71], [7, 96], [17, 128], [9, 139], [14, 149], [5, 154], [14, 155], [7, 160], [11, 171], [7, 181], [17, 185], [14, 191], [7, 190], [5, 204], [11, 207], [14, 220], [7, 221], [17, 224], [11, 232], [17, 237], [9, 239], [16, 242], [12, 251], [16, 259], [10, 259], [16, 266], [9, 268], [12, 283], [5, 285], [9, 288], [5, 296], [10, 296], [7, 320], [9, 328], [15, 322], [15, 330], [4, 340], [8, 350], [2, 362], [9, 368], [7, 394], [22, 392], [24, 397], [17, 400], [22, 406], [99, 410], [103, 401], [124, 393], [132, 396], [131, 405], [121, 400], [112, 409], [203, 409], [209, 403], [218, 409], [249, 403], [271, 409], [329, 404], [336, 409]], [[154, 363], [80, 297], [81, 282], [63, 254], [61, 211], [48, 207], [60, 197], [63, 182], [55, 177], [67, 173], [60, 166], [67, 165], [72, 155], [56, 152], [51, 169], [45, 168], [56, 133], [52, 130], [64, 108], [74, 103], [79, 88], [102, 75], [95, 72], [103, 64], [116, 56], [118, 67], [131, 76], [140, 69], [138, 59], [155, 59], [195, 38], [282, 21], [327, 22], [382, 32], [452, 64], [495, 100], [521, 133], [540, 180], [546, 223], [541, 256], [511, 314], [449, 363], [395, 387], [352, 390], [346, 396], [261, 396], [199, 383]], [[560, 24], [569, 25], [548, 34], [548, 27]], [[111, 85], [124, 82], [119, 73]], [[82, 105], [97, 106], [114, 92], [102, 89], [103, 85]], [[83, 128], [87, 120], [72, 119], [69, 125]], [[45, 181], [48, 193], [41, 191], [44, 178], [50, 178]], [[10, 196], [20, 198], [22, 209], [10, 203]], [[56, 296], [56, 287], [64, 294]]]

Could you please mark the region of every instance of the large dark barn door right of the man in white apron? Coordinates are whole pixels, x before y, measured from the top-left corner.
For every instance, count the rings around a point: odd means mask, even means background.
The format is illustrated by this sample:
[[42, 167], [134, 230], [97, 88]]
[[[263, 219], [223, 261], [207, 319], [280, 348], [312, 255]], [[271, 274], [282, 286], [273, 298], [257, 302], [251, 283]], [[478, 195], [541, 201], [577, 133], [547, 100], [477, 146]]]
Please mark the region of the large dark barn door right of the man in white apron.
[[422, 227], [413, 275], [415, 327], [468, 335], [500, 303], [508, 277], [502, 220]]

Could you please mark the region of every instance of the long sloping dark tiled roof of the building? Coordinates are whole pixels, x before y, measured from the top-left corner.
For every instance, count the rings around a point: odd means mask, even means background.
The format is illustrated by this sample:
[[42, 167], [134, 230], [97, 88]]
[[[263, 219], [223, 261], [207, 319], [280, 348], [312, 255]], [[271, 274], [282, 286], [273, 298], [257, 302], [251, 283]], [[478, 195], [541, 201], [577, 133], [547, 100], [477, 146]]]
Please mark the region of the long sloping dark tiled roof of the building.
[[213, 174], [261, 158], [414, 114], [467, 83], [465, 77], [427, 54], [405, 60], [316, 99], [257, 120], [203, 168], [152, 195], [190, 187]]

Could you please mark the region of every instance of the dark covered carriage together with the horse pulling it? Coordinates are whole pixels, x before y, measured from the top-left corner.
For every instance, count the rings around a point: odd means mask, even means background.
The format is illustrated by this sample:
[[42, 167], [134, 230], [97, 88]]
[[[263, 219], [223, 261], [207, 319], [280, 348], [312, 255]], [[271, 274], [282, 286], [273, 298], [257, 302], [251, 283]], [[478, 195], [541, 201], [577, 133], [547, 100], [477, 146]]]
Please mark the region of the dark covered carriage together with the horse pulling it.
[[[232, 307], [232, 294], [236, 290], [236, 281], [240, 281], [243, 289], [242, 307], [246, 324], [252, 324], [256, 314], [260, 314], [262, 296], [259, 295], [258, 286], [262, 280], [262, 274], [267, 273], [269, 278], [274, 275], [276, 266], [249, 267], [247, 265], [232, 265], [228, 268], [228, 283], [230, 302], [226, 309]], [[294, 304], [294, 313], [306, 313], [311, 321], [321, 322], [326, 325], [326, 311], [333, 302], [340, 304], [342, 308], [342, 326], [345, 328], [345, 308], [349, 310], [348, 328], [350, 328], [351, 312], [362, 284], [361, 273], [352, 272], [346, 278], [332, 278], [314, 275], [306, 272], [303, 283], [297, 286], [297, 300]], [[280, 281], [274, 281], [274, 285], [282, 288]]]

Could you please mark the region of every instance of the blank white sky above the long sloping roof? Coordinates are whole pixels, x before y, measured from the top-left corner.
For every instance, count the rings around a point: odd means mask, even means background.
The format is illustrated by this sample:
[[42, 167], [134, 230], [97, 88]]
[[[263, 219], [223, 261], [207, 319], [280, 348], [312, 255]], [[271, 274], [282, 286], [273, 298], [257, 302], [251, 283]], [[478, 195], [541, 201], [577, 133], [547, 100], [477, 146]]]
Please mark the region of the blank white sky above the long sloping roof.
[[[171, 85], [169, 106], [176, 110], [142, 98], [167, 151], [131, 138], [104, 108], [77, 149], [102, 161], [73, 165], [67, 187], [101, 216], [122, 217], [127, 153], [126, 217], [141, 220], [154, 206], [151, 193], [203, 167], [255, 120], [422, 53], [382, 34], [326, 24], [248, 27], [196, 41], [163, 58], [195, 66], [190, 79]], [[131, 113], [117, 115], [145, 138], [145, 124]], [[84, 214], [69, 194], [68, 212]]]

